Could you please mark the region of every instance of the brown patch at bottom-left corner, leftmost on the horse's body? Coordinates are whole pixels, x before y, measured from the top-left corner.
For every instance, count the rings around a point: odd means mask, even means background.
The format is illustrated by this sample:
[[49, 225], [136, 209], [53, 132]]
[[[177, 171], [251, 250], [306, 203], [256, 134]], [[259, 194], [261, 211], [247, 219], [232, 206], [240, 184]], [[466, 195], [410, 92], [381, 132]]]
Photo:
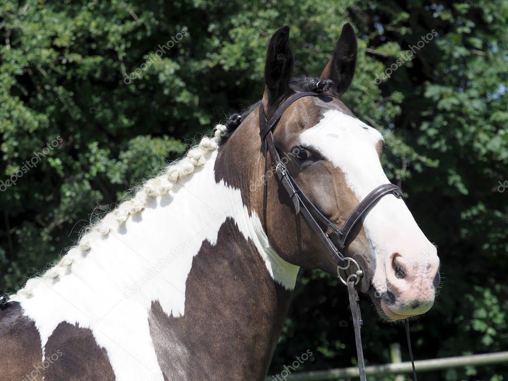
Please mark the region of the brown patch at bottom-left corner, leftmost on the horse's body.
[[42, 348], [35, 322], [23, 316], [18, 302], [0, 310], [0, 380], [40, 381]]

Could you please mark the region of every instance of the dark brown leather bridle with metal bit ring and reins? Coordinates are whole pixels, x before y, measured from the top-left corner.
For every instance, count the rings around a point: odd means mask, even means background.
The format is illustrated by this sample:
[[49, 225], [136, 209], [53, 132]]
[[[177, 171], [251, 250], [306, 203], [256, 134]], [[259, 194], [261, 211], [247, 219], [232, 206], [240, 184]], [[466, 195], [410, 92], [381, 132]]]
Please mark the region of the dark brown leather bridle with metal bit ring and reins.
[[[316, 85], [317, 90], [320, 90], [319, 83]], [[358, 293], [355, 289], [355, 285], [357, 285], [364, 276], [364, 272], [361, 269], [360, 265], [353, 258], [347, 256], [347, 247], [348, 245], [356, 238], [356, 234], [352, 233], [353, 228], [358, 224], [359, 220], [363, 215], [368, 213], [370, 208], [374, 206], [374, 204], [381, 198], [386, 195], [394, 195], [397, 198], [402, 197], [402, 190], [395, 184], [383, 184], [379, 185], [375, 189], [372, 190], [353, 210], [353, 212], [347, 217], [342, 228], [338, 228], [332, 221], [330, 221], [327, 217], [323, 215], [316, 208], [316, 206], [309, 200], [309, 198], [305, 195], [302, 189], [298, 186], [295, 179], [289, 172], [288, 168], [282, 162], [280, 155], [275, 147], [275, 143], [273, 140], [272, 131], [275, 129], [278, 121], [282, 117], [282, 114], [288, 107], [293, 104], [296, 100], [303, 97], [334, 97], [332, 94], [326, 93], [325, 91], [303, 91], [292, 94], [288, 97], [273, 113], [271, 118], [268, 120], [265, 114], [265, 110], [263, 108], [263, 104], [261, 103], [259, 106], [259, 128], [260, 128], [260, 136], [263, 142], [263, 154], [265, 157], [265, 175], [268, 170], [268, 152], [270, 152], [270, 156], [272, 158], [272, 162], [274, 165], [274, 171], [277, 174], [277, 178], [279, 179], [280, 185], [286, 190], [288, 196], [293, 201], [293, 205], [295, 207], [295, 214], [302, 214], [309, 227], [314, 231], [314, 233], [319, 237], [321, 242], [324, 244], [327, 252], [333, 258], [334, 261], [338, 262], [337, 265], [337, 275], [342, 283], [347, 285], [347, 290], [350, 299], [351, 305], [351, 313], [353, 315], [353, 323], [355, 328], [355, 340], [356, 340], [356, 348], [357, 348], [357, 356], [358, 356], [358, 367], [360, 370], [360, 380], [366, 381], [365, 375], [365, 363], [363, 359], [363, 348], [362, 348], [362, 338], [360, 334], [360, 328], [363, 324], [362, 317], [360, 313], [359, 306], [359, 297]], [[265, 176], [264, 180], [264, 223], [265, 229], [266, 225], [266, 207], [267, 207], [267, 176]], [[327, 233], [329, 231], [329, 233]], [[351, 264], [356, 266], [355, 273], [348, 275], [345, 279], [342, 277], [342, 272], [349, 269]], [[406, 331], [407, 338], [409, 344], [409, 352], [412, 359], [412, 350], [410, 347], [409, 341], [409, 326], [406, 322]], [[415, 365], [413, 364], [413, 369], [415, 369]], [[417, 381], [416, 371], [414, 372], [415, 381]]]

